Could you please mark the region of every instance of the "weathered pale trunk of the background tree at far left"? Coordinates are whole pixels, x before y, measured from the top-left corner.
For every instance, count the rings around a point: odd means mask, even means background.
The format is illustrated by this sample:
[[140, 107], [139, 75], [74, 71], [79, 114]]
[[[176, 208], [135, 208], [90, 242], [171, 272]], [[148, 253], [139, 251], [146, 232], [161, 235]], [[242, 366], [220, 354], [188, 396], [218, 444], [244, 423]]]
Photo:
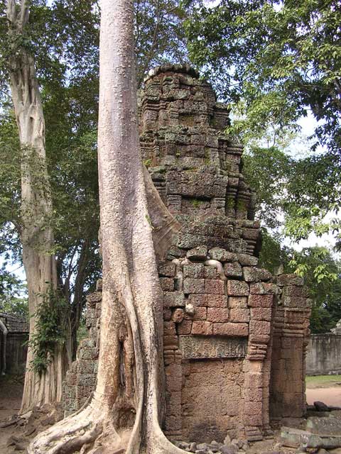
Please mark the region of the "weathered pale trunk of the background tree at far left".
[[[36, 332], [34, 314], [43, 295], [57, 288], [57, 274], [53, 231], [50, 221], [53, 215], [50, 184], [45, 159], [45, 123], [33, 57], [16, 41], [23, 37], [28, 23], [28, 1], [8, 0], [9, 37], [12, 52], [9, 57], [11, 94], [21, 143], [21, 243], [23, 265], [28, 287], [30, 314], [30, 339]], [[60, 400], [65, 373], [65, 353], [60, 346], [46, 372], [37, 374], [31, 361], [33, 351], [28, 346], [25, 385], [21, 412], [35, 405]]]

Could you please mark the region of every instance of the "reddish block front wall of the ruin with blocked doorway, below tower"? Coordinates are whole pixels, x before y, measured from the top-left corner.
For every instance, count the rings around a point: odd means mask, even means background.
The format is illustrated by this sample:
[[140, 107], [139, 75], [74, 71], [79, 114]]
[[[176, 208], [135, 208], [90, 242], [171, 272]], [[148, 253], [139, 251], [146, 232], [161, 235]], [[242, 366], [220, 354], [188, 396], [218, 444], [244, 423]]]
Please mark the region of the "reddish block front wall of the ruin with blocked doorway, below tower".
[[269, 431], [264, 370], [274, 284], [256, 263], [201, 246], [159, 267], [170, 438], [259, 439]]

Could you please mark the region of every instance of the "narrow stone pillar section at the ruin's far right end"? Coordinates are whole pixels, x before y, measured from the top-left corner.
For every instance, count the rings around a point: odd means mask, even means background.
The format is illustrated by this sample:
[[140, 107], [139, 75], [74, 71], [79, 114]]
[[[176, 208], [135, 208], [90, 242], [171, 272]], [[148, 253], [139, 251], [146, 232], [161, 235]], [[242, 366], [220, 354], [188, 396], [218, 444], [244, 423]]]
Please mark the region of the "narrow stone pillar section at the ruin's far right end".
[[271, 419], [305, 414], [305, 353], [311, 301], [303, 278], [280, 275], [281, 298], [275, 309], [271, 363]]

